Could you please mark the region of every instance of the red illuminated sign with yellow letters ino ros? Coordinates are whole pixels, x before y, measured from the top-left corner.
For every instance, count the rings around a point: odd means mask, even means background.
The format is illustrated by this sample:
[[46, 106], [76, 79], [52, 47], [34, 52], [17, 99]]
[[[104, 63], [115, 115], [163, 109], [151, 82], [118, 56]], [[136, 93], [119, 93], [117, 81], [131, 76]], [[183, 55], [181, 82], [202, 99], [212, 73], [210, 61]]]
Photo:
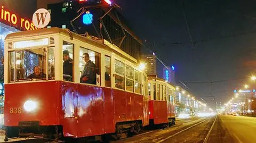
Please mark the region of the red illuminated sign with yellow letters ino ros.
[[6, 23], [12, 24], [15, 27], [25, 28], [26, 30], [35, 30], [37, 29], [33, 22], [25, 19], [19, 18], [17, 14], [12, 13], [11, 11], [5, 10], [4, 6], [1, 6], [0, 10], [0, 20], [3, 20]]

